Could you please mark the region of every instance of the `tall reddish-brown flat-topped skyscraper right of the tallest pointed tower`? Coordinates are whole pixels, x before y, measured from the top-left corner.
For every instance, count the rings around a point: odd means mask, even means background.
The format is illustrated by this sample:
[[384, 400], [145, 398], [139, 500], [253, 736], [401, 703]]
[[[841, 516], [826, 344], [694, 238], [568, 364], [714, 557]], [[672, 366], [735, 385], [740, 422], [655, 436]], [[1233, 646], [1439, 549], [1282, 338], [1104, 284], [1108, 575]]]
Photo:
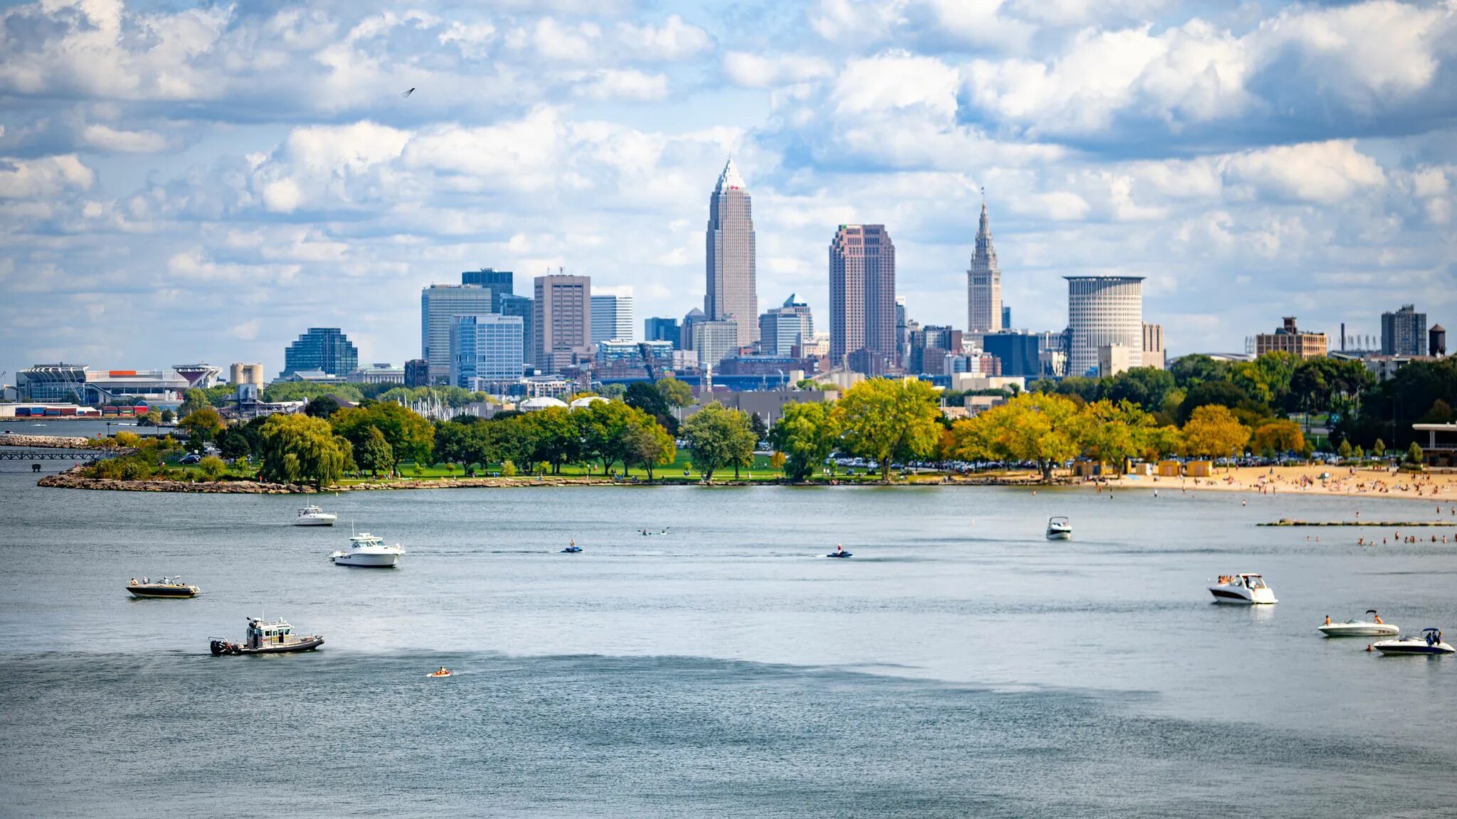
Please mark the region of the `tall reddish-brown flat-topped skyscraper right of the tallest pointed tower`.
[[868, 375], [896, 361], [896, 248], [884, 224], [841, 224], [829, 245], [829, 356]]

